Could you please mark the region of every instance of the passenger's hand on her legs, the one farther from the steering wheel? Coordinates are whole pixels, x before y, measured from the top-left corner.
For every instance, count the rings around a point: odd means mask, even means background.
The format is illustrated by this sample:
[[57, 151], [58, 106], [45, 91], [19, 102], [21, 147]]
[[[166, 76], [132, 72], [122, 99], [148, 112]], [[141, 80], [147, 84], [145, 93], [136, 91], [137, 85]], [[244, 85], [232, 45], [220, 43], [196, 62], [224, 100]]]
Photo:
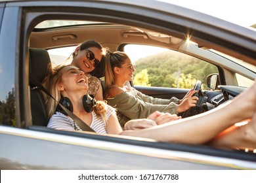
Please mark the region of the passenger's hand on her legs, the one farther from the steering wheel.
[[137, 119], [137, 120], [129, 120], [126, 124], [124, 129], [133, 129], [133, 130], [138, 130], [138, 129], [144, 129], [148, 127], [153, 127], [156, 126], [156, 122], [154, 120], [150, 119]]

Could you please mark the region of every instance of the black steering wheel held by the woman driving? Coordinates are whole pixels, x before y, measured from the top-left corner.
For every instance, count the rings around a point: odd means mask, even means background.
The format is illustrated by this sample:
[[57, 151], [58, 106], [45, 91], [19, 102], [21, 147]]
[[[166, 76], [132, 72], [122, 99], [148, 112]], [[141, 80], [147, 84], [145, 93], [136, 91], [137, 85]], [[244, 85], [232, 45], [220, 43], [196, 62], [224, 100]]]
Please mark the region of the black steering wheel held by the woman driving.
[[198, 92], [194, 93], [194, 95], [193, 95], [193, 96], [198, 97], [198, 103], [196, 103], [196, 107], [188, 108], [188, 110], [186, 110], [183, 113], [182, 118], [186, 118], [188, 116], [194, 116], [196, 114], [202, 113], [204, 111], [205, 107], [207, 107], [207, 105], [206, 105], [207, 97], [205, 95], [203, 95], [201, 86], [202, 86], [202, 82], [200, 80], [198, 80], [193, 88], [193, 91], [198, 90]]

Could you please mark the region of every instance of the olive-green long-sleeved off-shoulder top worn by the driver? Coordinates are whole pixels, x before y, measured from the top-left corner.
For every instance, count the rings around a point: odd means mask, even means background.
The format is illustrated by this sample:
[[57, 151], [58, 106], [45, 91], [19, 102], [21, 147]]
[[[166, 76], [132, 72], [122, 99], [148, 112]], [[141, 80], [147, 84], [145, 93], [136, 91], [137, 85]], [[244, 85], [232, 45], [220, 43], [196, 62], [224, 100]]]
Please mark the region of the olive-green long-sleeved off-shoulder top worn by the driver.
[[179, 99], [158, 99], [144, 95], [133, 88], [132, 92], [123, 92], [114, 98], [107, 98], [108, 105], [117, 109], [117, 118], [120, 125], [132, 119], [147, 118], [156, 110], [177, 114]]

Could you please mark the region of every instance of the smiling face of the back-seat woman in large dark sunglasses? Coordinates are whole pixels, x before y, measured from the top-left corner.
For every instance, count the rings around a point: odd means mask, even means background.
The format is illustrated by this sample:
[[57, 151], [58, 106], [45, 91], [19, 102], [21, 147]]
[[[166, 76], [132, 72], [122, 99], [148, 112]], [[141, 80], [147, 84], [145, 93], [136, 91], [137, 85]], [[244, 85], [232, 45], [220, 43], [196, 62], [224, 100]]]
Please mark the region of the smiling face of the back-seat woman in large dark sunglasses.
[[[91, 53], [91, 59], [89, 58], [89, 54]], [[93, 58], [94, 55], [94, 58]], [[89, 73], [95, 69], [95, 63], [102, 59], [102, 50], [96, 47], [90, 47], [85, 50], [80, 50], [78, 46], [75, 49], [74, 60], [72, 61], [72, 65], [75, 65], [79, 69], [81, 69], [85, 73]]]

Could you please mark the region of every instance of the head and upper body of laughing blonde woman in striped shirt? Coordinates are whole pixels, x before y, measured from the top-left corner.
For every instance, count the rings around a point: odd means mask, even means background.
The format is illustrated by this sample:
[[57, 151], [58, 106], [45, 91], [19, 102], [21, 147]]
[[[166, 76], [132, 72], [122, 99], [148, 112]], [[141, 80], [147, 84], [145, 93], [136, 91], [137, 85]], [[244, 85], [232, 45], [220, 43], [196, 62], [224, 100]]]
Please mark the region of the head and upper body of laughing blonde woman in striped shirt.
[[[85, 124], [89, 125], [96, 133], [119, 134], [122, 129], [116, 117], [114, 108], [106, 105], [104, 101], [96, 101], [92, 112], [87, 112], [83, 105], [83, 96], [88, 91], [88, 79], [85, 73], [74, 65], [57, 66], [45, 78], [43, 86], [49, 93], [60, 101], [68, 98], [72, 103], [72, 112]], [[46, 98], [49, 124], [47, 127], [70, 131], [81, 131], [80, 127], [66, 114], [56, 111], [57, 103], [51, 97]]]

